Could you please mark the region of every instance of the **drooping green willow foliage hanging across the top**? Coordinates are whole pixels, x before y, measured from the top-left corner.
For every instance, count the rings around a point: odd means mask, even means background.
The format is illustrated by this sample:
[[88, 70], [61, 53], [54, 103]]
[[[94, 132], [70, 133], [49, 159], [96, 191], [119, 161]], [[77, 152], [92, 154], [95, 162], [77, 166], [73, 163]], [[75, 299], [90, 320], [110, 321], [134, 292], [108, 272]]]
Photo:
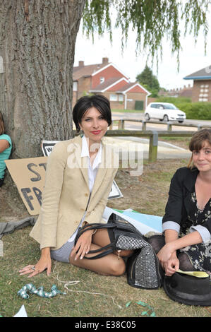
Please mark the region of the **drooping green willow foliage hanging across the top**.
[[[122, 48], [126, 46], [130, 29], [136, 32], [136, 51], [147, 52], [154, 59], [158, 53], [162, 57], [162, 40], [167, 37], [172, 53], [179, 51], [181, 37], [193, 34], [196, 41], [203, 29], [208, 32], [207, 13], [210, 0], [88, 0], [83, 11], [83, 29], [94, 38], [109, 32], [112, 39], [111, 18], [116, 16], [115, 27], [121, 28]], [[185, 27], [181, 34], [181, 24]]]

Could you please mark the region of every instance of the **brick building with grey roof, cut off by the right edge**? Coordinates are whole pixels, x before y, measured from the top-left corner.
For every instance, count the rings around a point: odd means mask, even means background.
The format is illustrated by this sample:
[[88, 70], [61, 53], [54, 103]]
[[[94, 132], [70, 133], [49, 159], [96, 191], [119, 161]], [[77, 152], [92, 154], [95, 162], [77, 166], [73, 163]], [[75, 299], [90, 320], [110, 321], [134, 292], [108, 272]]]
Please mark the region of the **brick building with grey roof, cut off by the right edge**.
[[211, 66], [183, 78], [193, 80], [192, 102], [211, 102]]

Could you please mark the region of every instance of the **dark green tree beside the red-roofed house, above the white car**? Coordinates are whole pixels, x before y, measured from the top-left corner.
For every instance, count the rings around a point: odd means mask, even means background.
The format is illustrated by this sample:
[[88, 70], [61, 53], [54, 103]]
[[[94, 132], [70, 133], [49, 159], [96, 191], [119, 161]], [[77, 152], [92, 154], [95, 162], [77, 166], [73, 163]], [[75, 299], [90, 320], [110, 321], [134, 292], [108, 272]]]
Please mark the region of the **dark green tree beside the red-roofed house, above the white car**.
[[152, 70], [146, 65], [142, 73], [136, 76], [136, 80], [151, 92], [150, 97], [157, 97], [159, 92], [159, 82], [157, 77], [153, 75]]

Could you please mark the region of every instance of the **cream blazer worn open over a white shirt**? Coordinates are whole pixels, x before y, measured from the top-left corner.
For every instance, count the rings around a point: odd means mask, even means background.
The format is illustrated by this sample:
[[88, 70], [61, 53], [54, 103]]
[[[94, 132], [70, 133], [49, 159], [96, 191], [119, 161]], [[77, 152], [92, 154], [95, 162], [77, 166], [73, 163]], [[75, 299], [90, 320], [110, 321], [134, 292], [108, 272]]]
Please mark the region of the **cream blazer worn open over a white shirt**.
[[102, 162], [90, 195], [88, 158], [81, 158], [82, 138], [76, 136], [57, 143], [47, 160], [40, 215], [30, 236], [40, 249], [59, 249], [67, 242], [83, 218], [102, 223], [111, 186], [119, 166], [117, 155], [102, 143]]

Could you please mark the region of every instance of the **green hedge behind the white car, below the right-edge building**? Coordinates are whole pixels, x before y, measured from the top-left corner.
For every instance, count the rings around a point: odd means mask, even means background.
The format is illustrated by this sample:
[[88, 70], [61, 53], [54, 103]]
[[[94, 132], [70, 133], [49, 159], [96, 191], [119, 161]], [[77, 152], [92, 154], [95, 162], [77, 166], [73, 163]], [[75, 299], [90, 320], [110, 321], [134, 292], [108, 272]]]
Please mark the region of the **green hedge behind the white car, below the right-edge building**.
[[160, 97], [157, 102], [171, 102], [186, 113], [187, 119], [211, 120], [211, 102], [191, 102], [189, 98]]

